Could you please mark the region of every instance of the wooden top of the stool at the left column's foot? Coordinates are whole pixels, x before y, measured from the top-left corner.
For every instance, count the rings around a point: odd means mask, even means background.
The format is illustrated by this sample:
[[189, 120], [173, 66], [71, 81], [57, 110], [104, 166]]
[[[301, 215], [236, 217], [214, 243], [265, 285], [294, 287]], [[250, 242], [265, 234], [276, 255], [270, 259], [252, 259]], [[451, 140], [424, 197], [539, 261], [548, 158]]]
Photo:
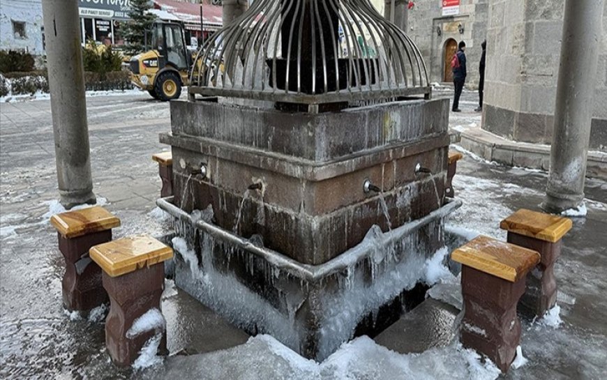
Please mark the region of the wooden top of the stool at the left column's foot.
[[75, 238], [119, 227], [120, 219], [101, 206], [52, 215], [51, 224], [64, 238]]

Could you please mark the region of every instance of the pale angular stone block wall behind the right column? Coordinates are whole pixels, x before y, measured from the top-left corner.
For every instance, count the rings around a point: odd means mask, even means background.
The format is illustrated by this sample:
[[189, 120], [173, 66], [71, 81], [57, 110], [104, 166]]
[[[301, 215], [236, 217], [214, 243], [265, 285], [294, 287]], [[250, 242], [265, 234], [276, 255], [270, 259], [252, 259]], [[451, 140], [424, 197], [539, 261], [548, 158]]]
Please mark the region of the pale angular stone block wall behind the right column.
[[[562, 0], [490, 0], [483, 128], [550, 144], [561, 51]], [[607, 151], [607, 3], [590, 148]]]

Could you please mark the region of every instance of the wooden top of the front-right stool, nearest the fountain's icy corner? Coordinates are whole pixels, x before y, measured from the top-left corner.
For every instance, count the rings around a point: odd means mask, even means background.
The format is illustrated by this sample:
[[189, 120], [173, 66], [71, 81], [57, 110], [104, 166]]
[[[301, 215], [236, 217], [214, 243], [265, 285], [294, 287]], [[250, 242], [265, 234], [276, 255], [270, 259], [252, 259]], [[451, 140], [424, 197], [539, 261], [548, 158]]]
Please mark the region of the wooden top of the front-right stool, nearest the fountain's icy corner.
[[539, 263], [539, 253], [518, 245], [479, 236], [454, 250], [451, 259], [510, 282], [518, 281]]

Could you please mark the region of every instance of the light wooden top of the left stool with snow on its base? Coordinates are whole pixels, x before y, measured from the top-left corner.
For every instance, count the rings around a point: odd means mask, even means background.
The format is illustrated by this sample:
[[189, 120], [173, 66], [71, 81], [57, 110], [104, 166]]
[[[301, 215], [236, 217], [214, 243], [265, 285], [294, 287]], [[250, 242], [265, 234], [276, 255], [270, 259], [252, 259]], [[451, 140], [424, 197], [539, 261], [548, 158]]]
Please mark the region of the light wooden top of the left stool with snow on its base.
[[170, 259], [173, 250], [151, 236], [140, 235], [95, 245], [89, 255], [110, 277], [118, 277]]

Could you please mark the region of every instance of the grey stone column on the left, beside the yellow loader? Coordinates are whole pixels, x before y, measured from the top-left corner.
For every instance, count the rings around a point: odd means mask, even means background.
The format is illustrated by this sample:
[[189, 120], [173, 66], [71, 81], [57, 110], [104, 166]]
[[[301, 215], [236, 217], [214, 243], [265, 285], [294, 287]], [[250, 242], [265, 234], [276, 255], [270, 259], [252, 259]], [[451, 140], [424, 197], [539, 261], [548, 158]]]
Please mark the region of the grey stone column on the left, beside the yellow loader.
[[48, 80], [61, 204], [94, 204], [76, 0], [43, 0]]

